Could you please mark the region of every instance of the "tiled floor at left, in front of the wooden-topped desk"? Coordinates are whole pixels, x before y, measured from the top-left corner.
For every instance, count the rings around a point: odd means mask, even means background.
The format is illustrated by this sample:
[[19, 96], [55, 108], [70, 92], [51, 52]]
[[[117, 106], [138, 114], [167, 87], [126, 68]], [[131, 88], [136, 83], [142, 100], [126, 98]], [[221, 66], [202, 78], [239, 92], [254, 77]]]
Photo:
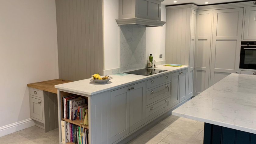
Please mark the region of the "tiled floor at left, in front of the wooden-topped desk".
[[0, 137], [0, 144], [59, 144], [59, 129], [44, 133], [44, 130], [33, 126]]

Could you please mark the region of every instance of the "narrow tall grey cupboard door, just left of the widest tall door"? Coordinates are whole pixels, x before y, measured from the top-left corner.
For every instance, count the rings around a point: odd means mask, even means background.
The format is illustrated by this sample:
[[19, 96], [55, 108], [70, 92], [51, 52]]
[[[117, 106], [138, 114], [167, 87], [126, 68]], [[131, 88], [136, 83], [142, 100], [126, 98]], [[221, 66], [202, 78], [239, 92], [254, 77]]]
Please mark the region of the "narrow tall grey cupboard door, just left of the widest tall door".
[[194, 95], [198, 95], [208, 88], [211, 30], [212, 10], [197, 12], [193, 86]]

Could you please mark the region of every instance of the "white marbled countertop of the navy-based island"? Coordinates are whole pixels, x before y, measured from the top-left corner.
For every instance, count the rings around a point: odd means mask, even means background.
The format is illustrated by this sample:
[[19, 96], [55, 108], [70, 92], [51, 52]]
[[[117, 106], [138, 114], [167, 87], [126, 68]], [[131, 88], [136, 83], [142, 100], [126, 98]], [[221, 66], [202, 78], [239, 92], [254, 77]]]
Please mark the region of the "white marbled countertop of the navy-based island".
[[256, 76], [230, 74], [172, 115], [256, 134]]

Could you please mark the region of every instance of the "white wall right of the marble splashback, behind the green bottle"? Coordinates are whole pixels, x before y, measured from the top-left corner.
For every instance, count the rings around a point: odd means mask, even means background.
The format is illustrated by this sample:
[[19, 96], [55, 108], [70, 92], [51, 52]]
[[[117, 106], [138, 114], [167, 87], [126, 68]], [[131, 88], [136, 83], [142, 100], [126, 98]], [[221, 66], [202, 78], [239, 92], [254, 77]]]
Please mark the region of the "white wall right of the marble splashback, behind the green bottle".
[[[165, 5], [161, 6], [161, 21], [166, 21]], [[146, 28], [146, 63], [150, 54], [152, 54], [153, 60], [165, 60], [165, 29], [166, 24], [162, 27]], [[163, 58], [159, 58], [159, 54], [163, 54]]]

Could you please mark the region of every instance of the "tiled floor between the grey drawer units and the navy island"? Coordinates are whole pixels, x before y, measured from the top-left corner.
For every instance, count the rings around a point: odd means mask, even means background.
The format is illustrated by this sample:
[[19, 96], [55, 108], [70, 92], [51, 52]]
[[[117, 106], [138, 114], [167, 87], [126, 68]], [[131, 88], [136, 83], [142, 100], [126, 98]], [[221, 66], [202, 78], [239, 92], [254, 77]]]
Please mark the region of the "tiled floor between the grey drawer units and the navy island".
[[171, 115], [127, 144], [203, 144], [204, 123]]

